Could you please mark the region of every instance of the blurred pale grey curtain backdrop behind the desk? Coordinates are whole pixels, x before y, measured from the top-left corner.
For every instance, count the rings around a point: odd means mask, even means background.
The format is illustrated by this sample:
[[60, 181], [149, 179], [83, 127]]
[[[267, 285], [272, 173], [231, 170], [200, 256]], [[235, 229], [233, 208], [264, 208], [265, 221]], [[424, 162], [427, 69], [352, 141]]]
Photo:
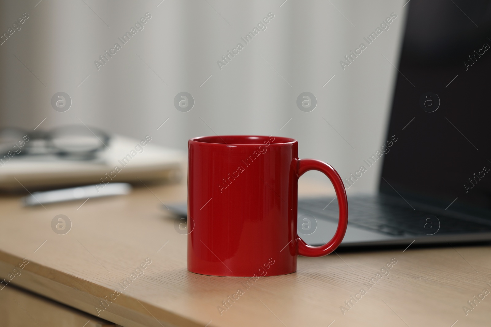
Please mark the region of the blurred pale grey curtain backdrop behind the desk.
[[[406, 0], [38, 1], [0, 4], [1, 34], [29, 15], [0, 45], [2, 127], [83, 123], [183, 151], [201, 135], [288, 136], [300, 158], [324, 160], [343, 179], [385, 142]], [[98, 70], [94, 61], [147, 12], [144, 29]], [[220, 70], [270, 12], [266, 30]], [[343, 70], [340, 60], [392, 12], [389, 30]], [[296, 104], [305, 91], [318, 101], [311, 112]], [[52, 108], [56, 92], [72, 99], [68, 111]], [[180, 92], [194, 98], [191, 111], [174, 107]], [[374, 191], [381, 164], [348, 192]], [[307, 178], [327, 183], [321, 176]]]

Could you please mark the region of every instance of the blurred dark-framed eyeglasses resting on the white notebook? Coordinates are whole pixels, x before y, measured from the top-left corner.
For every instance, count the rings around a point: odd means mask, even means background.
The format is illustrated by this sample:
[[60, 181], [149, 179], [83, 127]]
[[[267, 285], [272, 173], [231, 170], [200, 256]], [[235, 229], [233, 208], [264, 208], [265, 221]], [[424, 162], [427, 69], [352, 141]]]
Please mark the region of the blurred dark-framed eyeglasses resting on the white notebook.
[[[21, 128], [0, 129], [0, 155], [57, 155], [72, 160], [90, 160], [109, 143], [109, 135], [94, 127], [60, 126], [49, 131]], [[20, 149], [20, 150], [19, 150]]]

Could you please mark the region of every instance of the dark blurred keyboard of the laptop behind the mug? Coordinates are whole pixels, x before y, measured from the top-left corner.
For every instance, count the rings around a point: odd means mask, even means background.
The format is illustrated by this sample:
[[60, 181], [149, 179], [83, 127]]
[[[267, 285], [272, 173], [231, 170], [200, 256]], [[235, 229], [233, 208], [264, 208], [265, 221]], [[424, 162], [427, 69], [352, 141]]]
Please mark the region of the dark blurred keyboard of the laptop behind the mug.
[[[317, 219], [337, 222], [339, 213], [337, 200], [329, 203], [331, 199], [300, 199], [299, 211], [309, 213]], [[391, 201], [381, 197], [349, 198], [348, 212], [350, 225], [389, 235], [491, 232], [491, 221], [477, 222], [451, 217], [444, 213], [432, 214], [413, 209], [407, 202]]]

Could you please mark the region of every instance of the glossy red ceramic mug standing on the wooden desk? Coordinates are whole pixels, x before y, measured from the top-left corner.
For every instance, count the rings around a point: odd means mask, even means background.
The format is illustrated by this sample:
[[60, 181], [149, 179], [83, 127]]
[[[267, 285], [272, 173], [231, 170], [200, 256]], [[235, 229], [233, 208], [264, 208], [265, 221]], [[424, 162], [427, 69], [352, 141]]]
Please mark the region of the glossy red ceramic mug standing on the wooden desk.
[[[277, 136], [203, 136], [189, 140], [188, 270], [256, 277], [290, 274], [297, 255], [323, 256], [341, 243], [348, 201], [327, 163], [299, 159], [297, 140]], [[336, 191], [339, 223], [325, 245], [297, 235], [297, 183], [309, 170], [326, 174]]]

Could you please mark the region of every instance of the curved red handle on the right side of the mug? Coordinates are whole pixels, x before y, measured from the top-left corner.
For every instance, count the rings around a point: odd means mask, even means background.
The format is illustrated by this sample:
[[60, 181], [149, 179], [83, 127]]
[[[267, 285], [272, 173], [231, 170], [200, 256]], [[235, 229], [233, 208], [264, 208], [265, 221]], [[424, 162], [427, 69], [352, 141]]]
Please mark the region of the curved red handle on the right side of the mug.
[[339, 222], [336, 229], [336, 233], [332, 239], [325, 245], [314, 247], [308, 245], [299, 236], [297, 236], [297, 253], [303, 256], [324, 256], [327, 255], [339, 246], [346, 233], [346, 227], [348, 226], [348, 199], [346, 197], [346, 190], [343, 185], [343, 181], [339, 174], [330, 165], [324, 161], [315, 159], [300, 159], [299, 160], [298, 177], [302, 176], [309, 170], [318, 170], [329, 177], [334, 190], [336, 191], [336, 198], [339, 205]]

